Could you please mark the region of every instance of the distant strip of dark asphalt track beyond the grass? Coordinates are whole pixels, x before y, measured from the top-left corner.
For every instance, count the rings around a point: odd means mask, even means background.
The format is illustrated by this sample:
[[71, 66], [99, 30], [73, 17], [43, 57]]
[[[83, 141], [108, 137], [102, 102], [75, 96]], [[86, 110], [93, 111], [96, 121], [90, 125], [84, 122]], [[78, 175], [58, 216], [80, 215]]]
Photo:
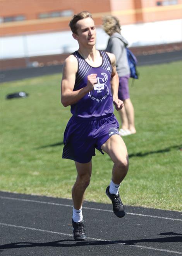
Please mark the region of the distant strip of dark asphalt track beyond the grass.
[[[160, 53], [160, 54], [137, 56], [137, 60], [138, 60], [138, 66], [169, 63], [172, 61], [182, 60], [182, 50], [172, 51], [167, 53]], [[0, 72], [0, 82], [9, 82], [9, 81], [21, 80], [24, 78], [62, 73], [62, 70], [63, 70], [63, 65], [2, 70]]]

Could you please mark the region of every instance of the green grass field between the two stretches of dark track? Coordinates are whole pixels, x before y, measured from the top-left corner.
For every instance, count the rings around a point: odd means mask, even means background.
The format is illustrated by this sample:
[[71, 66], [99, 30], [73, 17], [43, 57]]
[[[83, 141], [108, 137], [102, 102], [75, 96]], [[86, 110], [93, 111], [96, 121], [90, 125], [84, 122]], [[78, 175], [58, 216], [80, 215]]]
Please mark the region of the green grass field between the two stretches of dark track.
[[[130, 167], [120, 194], [126, 205], [182, 210], [181, 70], [180, 61], [139, 67], [140, 78], [130, 87], [137, 133], [124, 137]], [[60, 104], [60, 80], [56, 74], [1, 85], [1, 190], [71, 198], [76, 170], [62, 159], [71, 115]], [[29, 97], [5, 99], [16, 91]], [[85, 200], [110, 203], [105, 188], [112, 165], [96, 151]]]

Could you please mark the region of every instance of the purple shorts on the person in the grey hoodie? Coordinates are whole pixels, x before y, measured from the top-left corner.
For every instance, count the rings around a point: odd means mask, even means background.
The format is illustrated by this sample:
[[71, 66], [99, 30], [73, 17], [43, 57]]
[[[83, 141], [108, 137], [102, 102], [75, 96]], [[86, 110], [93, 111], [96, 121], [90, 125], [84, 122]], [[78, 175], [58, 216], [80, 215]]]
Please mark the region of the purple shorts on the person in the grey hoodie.
[[130, 75], [125, 75], [119, 77], [119, 89], [118, 89], [118, 98], [120, 100], [126, 100], [130, 98], [129, 95], [129, 86], [128, 86], [128, 79]]

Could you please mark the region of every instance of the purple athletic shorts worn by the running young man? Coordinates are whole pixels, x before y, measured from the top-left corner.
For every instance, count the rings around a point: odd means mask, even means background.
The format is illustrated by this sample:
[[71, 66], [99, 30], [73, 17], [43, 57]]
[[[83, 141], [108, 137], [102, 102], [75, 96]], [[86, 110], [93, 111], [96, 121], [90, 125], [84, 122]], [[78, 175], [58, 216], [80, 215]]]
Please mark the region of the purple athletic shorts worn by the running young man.
[[64, 132], [62, 158], [88, 163], [95, 156], [95, 149], [103, 154], [101, 146], [112, 135], [119, 134], [118, 127], [114, 114], [91, 118], [72, 116]]

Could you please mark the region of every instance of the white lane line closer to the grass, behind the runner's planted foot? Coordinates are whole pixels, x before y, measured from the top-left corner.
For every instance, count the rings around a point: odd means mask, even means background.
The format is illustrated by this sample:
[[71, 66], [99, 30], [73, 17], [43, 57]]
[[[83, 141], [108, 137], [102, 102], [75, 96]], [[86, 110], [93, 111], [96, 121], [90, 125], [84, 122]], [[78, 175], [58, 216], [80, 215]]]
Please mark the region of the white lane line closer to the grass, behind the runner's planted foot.
[[[18, 201], [23, 201], [23, 202], [44, 203], [44, 204], [50, 204], [50, 205], [73, 207], [72, 205], [63, 204], [63, 203], [44, 202], [44, 201], [37, 201], [37, 200], [30, 200], [30, 199], [23, 199], [23, 198], [15, 198], [15, 197], [8, 197], [8, 196], [0, 196], [0, 198], [9, 199], [9, 200], [18, 200]], [[98, 208], [91, 208], [91, 207], [82, 207], [82, 209], [98, 210], [98, 211], [103, 211], [103, 212], [113, 212], [112, 210], [98, 209]], [[139, 214], [139, 213], [133, 213], [133, 212], [127, 212], [127, 214], [142, 216], [142, 217], [158, 218], [158, 219], [169, 219], [169, 220], [172, 220], [172, 221], [182, 221], [182, 219], [175, 219], [175, 218], [168, 218], [168, 217], [161, 217], [161, 216], [153, 216], [153, 215]]]

